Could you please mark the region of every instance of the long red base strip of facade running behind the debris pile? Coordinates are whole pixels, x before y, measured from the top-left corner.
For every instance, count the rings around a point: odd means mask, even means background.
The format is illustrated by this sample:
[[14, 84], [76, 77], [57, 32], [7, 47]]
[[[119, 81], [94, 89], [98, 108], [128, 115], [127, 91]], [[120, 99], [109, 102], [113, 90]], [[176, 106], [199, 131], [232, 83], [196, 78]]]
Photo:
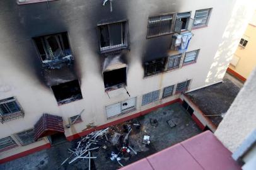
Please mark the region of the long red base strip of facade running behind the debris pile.
[[90, 128], [89, 130], [85, 130], [83, 132], [76, 133], [74, 135], [71, 135], [71, 136], [67, 137], [67, 140], [71, 141], [71, 140], [74, 140], [74, 139], [78, 139], [79, 137], [83, 137], [85, 135], [88, 135], [89, 133], [91, 133], [91, 132], [93, 132], [95, 130], [102, 130], [103, 128], [107, 128], [107, 127], [110, 127], [110, 126], [113, 126], [113, 125], [117, 125], [119, 123], [123, 123], [123, 122], [125, 122], [127, 120], [131, 120], [133, 118], [137, 118], [138, 116], [146, 115], [147, 113], [150, 113], [151, 111], [157, 110], [158, 108], [162, 108], [162, 107], [165, 107], [165, 106], [168, 106], [168, 105], [172, 105], [173, 103], [182, 103], [182, 100], [180, 98], [174, 99], [172, 101], [168, 101], [167, 103], [163, 103], [161, 105], [154, 106], [153, 108], [149, 108], [148, 110], [140, 111], [140, 112], [135, 113], [133, 115], [126, 116], [124, 118], [120, 118], [119, 120], [115, 120], [113, 122], [106, 123], [104, 125], [100, 125], [99, 127]]

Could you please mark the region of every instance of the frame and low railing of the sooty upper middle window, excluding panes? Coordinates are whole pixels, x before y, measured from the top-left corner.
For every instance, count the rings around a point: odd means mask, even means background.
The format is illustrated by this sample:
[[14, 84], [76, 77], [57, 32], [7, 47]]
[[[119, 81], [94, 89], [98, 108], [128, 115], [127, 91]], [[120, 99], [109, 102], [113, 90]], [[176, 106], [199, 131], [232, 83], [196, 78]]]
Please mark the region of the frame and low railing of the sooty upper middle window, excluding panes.
[[[110, 25], [115, 24], [115, 23], [121, 23], [121, 38], [122, 42], [119, 45], [111, 45], [111, 35], [110, 35]], [[108, 36], [109, 36], [109, 46], [107, 47], [102, 47], [101, 45], [101, 33], [100, 33], [100, 26], [105, 26], [107, 25], [108, 28]], [[129, 27], [128, 27], [128, 20], [120, 20], [120, 21], [114, 21], [111, 23], [102, 23], [102, 24], [97, 24], [97, 33], [98, 33], [98, 47], [100, 49], [101, 54], [105, 54], [107, 52], [113, 52], [113, 51], [119, 51], [123, 49], [129, 48]], [[125, 35], [125, 37], [124, 37]]]

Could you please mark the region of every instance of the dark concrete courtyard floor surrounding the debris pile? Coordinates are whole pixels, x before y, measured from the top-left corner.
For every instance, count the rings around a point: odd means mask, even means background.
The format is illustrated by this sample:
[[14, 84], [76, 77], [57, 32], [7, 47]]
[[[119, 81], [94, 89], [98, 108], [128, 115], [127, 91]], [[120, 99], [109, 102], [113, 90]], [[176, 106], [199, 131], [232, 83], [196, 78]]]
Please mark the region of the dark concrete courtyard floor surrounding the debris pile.
[[[158, 126], [153, 127], [150, 124], [150, 119], [158, 120]], [[130, 160], [121, 160], [122, 164], [127, 165], [142, 159], [146, 156], [154, 154], [160, 150], [170, 147], [178, 142], [201, 133], [195, 122], [187, 111], [185, 111], [179, 103], [175, 103], [164, 108], [149, 113], [148, 115], [137, 118], [141, 123], [141, 129], [137, 132], [132, 131], [129, 136], [130, 145], [138, 152], [137, 155], [131, 157]], [[166, 121], [172, 120], [176, 127], [170, 128]], [[151, 144], [142, 144], [143, 136], [150, 135]], [[21, 157], [6, 164], [1, 164], [2, 170], [25, 170], [25, 169], [88, 169], [88, 161], [76, 161], [73, 164], [64, 164], [61, 162], [69, 156], [67, 149], [71, 148], [74, 142], [65, 142], [64, 144], [56, 145], [47, 150], [42, 150], [26, 157]], [[93, 156], [97, 156], [91, 169], [118, 169], [117, 162], [110, 161], [111, 149], [100, 149], [98, 152], [93, 152]]]

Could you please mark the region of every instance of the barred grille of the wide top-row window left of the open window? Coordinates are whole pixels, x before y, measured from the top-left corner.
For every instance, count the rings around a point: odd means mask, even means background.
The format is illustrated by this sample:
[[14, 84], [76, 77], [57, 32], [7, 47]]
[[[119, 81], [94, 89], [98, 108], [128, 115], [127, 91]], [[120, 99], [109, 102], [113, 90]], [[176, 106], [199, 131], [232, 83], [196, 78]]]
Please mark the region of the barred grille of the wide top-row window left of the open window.
[[173, 14], [154, 16], [148, 20], [148, 38], [172, 33]]

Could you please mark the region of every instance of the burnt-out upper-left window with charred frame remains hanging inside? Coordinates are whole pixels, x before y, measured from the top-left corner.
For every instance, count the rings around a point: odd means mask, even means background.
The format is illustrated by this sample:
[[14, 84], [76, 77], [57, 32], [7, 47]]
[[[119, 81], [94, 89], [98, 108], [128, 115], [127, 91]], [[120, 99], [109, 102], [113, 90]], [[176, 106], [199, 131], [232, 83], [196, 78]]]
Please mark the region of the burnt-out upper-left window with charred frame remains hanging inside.
[[71, 59], [67, 33], [57, 33], [33, 38], [43, 63], [57, 59]]

